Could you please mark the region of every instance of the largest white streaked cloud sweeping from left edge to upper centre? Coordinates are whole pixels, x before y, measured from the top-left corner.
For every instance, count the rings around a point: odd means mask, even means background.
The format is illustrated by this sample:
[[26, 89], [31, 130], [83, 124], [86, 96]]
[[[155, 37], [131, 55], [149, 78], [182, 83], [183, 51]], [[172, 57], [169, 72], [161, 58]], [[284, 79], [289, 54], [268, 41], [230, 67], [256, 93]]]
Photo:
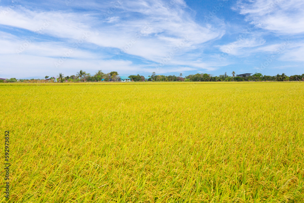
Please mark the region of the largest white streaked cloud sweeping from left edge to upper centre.
[[[100, 47], [119, 48], [127, 54], [159, 62], [185, 39], [187, 42], [179, 49], [182, 53], [220, 38], [225, 32], [224, 25], [215, 28], [197, 24], [185, 12], [185, 7], [182, 0], [125, 1], [121, 10], [115, 16], [109, 16], [106, 22], [100, 21], [96, 13], [43, 12], [19, 7], [1, 16], [0, 24], [33, 32], [39, 30], [40, 33], [62, 39], [79, 40], [89, 33], [86, 42]], [[131, 13], [137, 13], [136, 16], [140, 17], [134, 18]]]

